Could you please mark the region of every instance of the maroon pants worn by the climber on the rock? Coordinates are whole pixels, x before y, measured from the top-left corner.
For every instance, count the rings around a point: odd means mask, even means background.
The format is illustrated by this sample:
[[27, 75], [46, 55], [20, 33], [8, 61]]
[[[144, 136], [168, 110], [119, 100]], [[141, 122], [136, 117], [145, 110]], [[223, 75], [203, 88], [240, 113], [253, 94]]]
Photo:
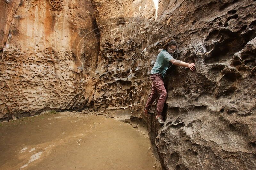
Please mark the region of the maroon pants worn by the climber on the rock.
[[164, 108], [164, 103], [167, 97], [167, 92], [166, 89], [164, 87], [164, 81], [163, 78], [160, 74], [151, 74], [150, 75], [151, 81], [152, 81], [152, 91], [151, 91], [151, 95], [148, 98], [148, 101], [146, 103], [146, 110], [149, 110], [151, 105], [153, 104], [153, 102], [155, 101], [158, 93], [160, 94], [160, 97], [158, 99], [158, 103], [157, 103], [157, 108], [156, 108], [156, 113], [157, 115], [162, 115], [162, 111]]

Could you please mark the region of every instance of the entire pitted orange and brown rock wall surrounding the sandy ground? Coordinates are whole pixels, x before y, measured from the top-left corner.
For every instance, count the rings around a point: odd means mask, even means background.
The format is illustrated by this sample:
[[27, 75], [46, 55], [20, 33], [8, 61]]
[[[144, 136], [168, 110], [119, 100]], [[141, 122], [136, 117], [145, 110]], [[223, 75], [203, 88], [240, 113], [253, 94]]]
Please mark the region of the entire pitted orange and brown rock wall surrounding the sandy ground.
[[[95, 112], [145, 126], [163, 169], [256, 169], [255, 0], [2, 3], [1, 120]], [[171, 38], [196, 71], [167, 71], [160, 126], [143, 110]]]

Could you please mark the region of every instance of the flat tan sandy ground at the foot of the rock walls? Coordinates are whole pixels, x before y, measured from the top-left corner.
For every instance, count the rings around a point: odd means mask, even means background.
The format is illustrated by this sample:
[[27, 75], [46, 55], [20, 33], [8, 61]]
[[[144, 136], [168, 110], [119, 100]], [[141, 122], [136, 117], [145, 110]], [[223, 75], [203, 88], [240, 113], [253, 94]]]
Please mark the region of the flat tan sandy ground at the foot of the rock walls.
[[160, 168], [148, 137], [130, 124], [63, 112], [1, 123], [0, 169]]

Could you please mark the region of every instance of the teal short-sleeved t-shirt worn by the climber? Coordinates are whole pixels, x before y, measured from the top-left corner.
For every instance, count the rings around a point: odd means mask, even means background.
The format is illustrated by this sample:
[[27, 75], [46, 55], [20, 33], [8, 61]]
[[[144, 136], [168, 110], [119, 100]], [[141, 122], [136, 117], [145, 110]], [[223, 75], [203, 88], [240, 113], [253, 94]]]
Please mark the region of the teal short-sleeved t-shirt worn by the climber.
[[173, 57], [166, 50], [160, 51], [150, 74], [159, 73], [164, 77], [171, 59], [173, 59]]

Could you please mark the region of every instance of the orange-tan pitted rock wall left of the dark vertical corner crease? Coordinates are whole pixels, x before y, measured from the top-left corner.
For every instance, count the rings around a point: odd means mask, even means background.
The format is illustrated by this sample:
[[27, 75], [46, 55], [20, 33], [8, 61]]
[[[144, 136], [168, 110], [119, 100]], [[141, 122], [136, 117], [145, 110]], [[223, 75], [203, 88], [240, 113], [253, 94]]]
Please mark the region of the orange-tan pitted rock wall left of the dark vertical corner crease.
[[99, 51], [96, 32], [90, 48], [82, 45], [84, 32], [97, 27], [92, 3], [1, 0], [1, 6], [1, 121], [85, 107], [88, 69], [95, 69]]

